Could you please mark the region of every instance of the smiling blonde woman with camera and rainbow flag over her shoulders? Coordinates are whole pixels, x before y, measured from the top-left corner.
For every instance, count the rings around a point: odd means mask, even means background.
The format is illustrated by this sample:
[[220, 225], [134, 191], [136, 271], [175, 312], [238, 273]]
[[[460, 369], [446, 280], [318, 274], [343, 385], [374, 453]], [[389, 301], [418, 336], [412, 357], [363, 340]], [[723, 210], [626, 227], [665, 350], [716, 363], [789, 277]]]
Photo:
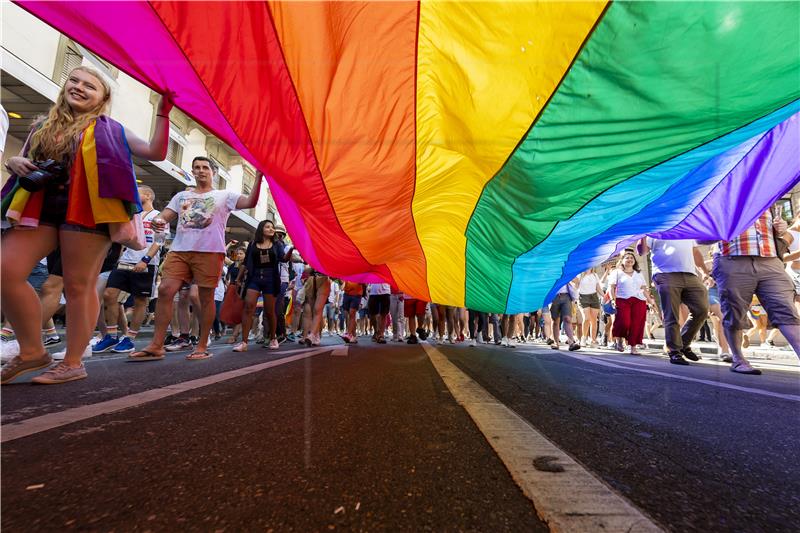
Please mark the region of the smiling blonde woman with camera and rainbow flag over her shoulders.
[[164, 159], [172, 102], [161, 99], [149, 142], [106, 116], [110, 108], [111, 90], [101, 74], [83, 66], [72, 70], [47, 117], [6, 164], [13, 176], [3, 190], [2, 215], [11, 229], [2, 237], [1, 293], [20, 355], [3, 368], [2, 383], [52, 363], [39, 332], [39, 299], [26, 278], [56, 247], [67, 300], [67, 351], [63, 362], [34, 382], [86, 377], [81, 358], [98, 315], [95, 282], [111, 245], [108, 224], [141, 210], [131, 155]]

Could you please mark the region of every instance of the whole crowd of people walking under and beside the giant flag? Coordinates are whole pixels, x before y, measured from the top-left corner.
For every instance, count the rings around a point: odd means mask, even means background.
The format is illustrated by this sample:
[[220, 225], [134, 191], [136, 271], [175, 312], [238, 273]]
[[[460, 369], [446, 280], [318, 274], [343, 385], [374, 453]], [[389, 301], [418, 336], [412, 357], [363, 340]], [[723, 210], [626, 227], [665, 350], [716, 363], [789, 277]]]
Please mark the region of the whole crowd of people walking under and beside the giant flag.
[[[102, 77], [78, 67], [20, 155], [7, 160], [4, 384], [40, 370], [35, 383], [83, 379], [83, 359], [106, 352], [126, 353], [132, 362], [181, 351], [190, 361], [207, 359], [209, 344], [225, 335], [234, 352], [257, 343], [271, 350], [285, 342], [317, 346], [327, 333], [349, 344], [386, 344], [391, 335], [392, 342], [408, 344], [538, 342], [635, 356], [644, 336], [652, 338], [663, 323], [670, 363], [688, 365], [700, 358], [692, 342], [710, 317], [720, 358], [734, 372], [760, 373], [742, 349], [756, 333], [767, 342], [769, 327], [800, 354], [800, 216], [789, 227], [770, 209], [724, 242], [644, 237], [566, 283], [541, 309], [484, 313], [422, 301], [387, 283], [331, 279], [303, 261], [273, 220], [261, 221], [249, 243], [226, 243], [230, 213], [257, 204], [261, 174], [248, 195], [215, 190], [215, 162], [195, 157], [196, 185], [158, 211], [154, 191], [136, 182], [131, 156], [164, 158], [169, 95], [160, 100], [149, 141], [108, 118], [110, 99]], [[108, 133], [115, 128], [124, 134]], [[113, 175], [100, 178], [111, 183], [105, 188], [97, 175], [82, 171], [89, 168], [89, 138], [114, 165]], [[30, 185], [34, 178], [38, 186]], [[114, 213], [127, 215], [125, 202], [141, 206], [142, 249], [123, 247], [117, 238], [121, 222]], [[642, 272], [648, 257], [651, 279]], [[62, 342], [53, 323], [62, 298], [66, 348], [51, 355], [47, 346]], [[153, 323], [152, 335], [137, 347], [146, 322]]]

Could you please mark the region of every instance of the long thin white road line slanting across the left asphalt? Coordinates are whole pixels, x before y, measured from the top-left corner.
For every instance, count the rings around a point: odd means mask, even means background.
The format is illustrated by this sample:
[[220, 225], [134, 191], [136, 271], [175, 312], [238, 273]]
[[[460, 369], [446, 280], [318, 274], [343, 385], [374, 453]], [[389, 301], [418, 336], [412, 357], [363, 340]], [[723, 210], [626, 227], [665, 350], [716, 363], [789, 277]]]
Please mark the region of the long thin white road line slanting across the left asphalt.
[[[190, 381], [184, 381], [183, 383], [176, 383], [174, 385], [168, 385], [166, 387], [161, 387], [158, 389], [151, 389], [136, 394], [130, 394], [128, 396], [123, 396], [122, 398], [114, 398], [113, 400], [108, 400], [105, 402], [99, 402], [91, 405], [83, 405], [81, 407], [74, 407], [72, 409], [59, 411], [57, 413], [48, 413], [46, 415], [28, 418], [27, 420], [22, 420], [20, 422], [6, 424], [2, 426], [2, 434], [0, 435], [0, 442], [9, 442], [15, 439], [20, 439], [22, 437], [27, 437], [30, 435], [34, 435], [36, 433], [40, 433], [42, 431], [47, 431], [49, 429], [66, 426], [67, 424], [80, 422], [82, 420], [86, 420], [89, 418], [94, 418], [96, 416], [115, 413], [117, 411], [128, 409], [130, 407], [138, 407], [140, 405], [154, 402], [156, 400], [161, 400], [162, 398], [167, 398], [169, 396], [174, 396], [182, 392], [190, 391], [193, 389], [199, 389], [200, 387], [207, 387], [208, 385], [213, 385], [221, 381], [227, 381], [229, 379], [246, 376], [247, 374], [260, 372], [262, 370], [266, 370], [268, 368], [273, 368], [280, 365], [285, 365], [287, 363], [293, 363], [295, 361], [300, 361], [301, 359], [307, 359], [309, 357], [313, 357], [315, 355], [318, 355], [323, 352], [328, 352], [330, 350], [331, 347], [291, 350], [283, 353], [284, 354], [297, 353], [297, 352], [303, 352], [303, 353], [298, 353], [297, 355], [292, 355], [290, 357], [283, 357], [281, 359], [276, 359], [274, 361], [268, 361], [266, 363], [246, 366], [244, 368], [237, 368], [236, 370], [230, 370], [228, 372], [214, 374], [213, 376], [193, 379]], [[147, 363], [138, 363], [138, 364], [147, 364]], [[186, 364], [194, 364], [194, 363], [186, 363]]]

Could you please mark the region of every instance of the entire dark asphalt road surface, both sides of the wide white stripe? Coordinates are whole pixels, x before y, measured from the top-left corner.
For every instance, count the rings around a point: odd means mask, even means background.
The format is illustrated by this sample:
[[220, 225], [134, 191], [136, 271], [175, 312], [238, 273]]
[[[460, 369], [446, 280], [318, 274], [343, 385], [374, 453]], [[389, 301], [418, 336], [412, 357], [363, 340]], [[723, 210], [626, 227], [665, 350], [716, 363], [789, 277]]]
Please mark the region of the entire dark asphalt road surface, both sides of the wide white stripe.
[[[797, 531], [800, 373], [531, 346], [440, 349], [665, 529]], [[2, 422], [308, 353], [296, 350], [97, 357], [84, 381], [4, 386]], [[5, 442], [3, 529], [547, 530], [420, 347], [362, 339], [346, 356], [326, 351], [170, 394]]]

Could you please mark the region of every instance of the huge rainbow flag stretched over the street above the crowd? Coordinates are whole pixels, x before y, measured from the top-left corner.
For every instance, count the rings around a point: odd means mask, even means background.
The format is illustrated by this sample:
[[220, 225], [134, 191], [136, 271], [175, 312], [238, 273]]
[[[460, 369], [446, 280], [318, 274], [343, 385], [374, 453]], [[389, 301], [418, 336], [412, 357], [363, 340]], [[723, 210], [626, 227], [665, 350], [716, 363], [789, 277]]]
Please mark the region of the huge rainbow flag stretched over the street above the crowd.
[[19, 1], [268, 175], [316, 268], [539, 307], [800, 179], [799, 2]]

